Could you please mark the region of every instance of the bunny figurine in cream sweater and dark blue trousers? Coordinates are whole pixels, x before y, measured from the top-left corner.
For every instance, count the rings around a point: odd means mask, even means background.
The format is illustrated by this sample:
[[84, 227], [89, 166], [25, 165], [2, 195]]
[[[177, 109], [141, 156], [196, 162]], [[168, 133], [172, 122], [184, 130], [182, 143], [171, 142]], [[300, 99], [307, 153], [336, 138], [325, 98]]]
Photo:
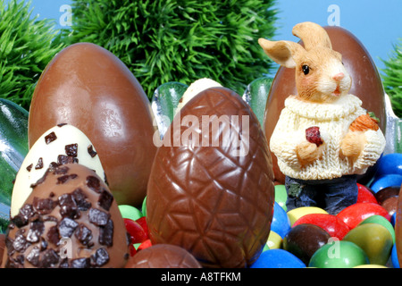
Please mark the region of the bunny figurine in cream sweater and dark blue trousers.
[[302, 22], [291, 41], [258, 43], [274, 62], [296, 71], [297, 95], [289, 95], [272, 132], [270, 148], [286, 176], [288, 210], [318, 206], [338, 214], [357, 200], [357, 174], [380, 158], [385, 138], [361, 100], [348, 94], [352, 79], [325, 29]]

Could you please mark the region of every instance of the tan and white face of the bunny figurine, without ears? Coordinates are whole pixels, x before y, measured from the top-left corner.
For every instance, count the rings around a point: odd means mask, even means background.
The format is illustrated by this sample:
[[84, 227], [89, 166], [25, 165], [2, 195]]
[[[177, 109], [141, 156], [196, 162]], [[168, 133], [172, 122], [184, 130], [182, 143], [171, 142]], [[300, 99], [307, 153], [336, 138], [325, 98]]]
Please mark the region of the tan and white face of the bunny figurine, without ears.
[[300, 99], [330, 103], [348, 93], [352, 80], [338, 52], [321, 47], [303, 54], [294, 59]]

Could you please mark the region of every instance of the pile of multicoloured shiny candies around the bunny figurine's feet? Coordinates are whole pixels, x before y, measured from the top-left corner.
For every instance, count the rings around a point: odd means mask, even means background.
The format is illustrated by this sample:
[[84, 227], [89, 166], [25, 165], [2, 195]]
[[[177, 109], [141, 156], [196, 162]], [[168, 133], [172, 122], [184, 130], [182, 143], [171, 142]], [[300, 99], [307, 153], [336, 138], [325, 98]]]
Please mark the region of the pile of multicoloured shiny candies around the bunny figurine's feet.
[[286, 190], [275, 186], [269, 239], [252, 267], [394, 267], [402, 154], [382, 156], [369, 187], [358, 185], [355, 205], [337, 215], [315, 206], [287, 212]]

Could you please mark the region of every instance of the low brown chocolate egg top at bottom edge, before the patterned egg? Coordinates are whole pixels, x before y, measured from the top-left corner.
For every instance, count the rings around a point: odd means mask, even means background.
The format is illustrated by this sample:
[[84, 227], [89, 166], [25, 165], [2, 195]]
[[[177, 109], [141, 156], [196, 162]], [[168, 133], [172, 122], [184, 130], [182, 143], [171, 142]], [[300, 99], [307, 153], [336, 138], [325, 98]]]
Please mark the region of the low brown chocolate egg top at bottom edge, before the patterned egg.
[[156, 244], [130, 257], [125, 268], [201, 268], [186, 249], [171, 244]]

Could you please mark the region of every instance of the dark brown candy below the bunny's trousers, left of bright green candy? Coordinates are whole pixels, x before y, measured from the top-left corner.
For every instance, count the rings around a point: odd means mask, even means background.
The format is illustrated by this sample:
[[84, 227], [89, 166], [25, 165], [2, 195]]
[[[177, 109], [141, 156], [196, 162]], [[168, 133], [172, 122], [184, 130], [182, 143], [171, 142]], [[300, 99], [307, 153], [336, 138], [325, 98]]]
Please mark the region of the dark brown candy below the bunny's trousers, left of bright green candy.
[[331, 236], [321, 227], [303, 223], [294, 226], [283, 239], [283, 249], [308, 265], [315, 251], [327, 244]]

